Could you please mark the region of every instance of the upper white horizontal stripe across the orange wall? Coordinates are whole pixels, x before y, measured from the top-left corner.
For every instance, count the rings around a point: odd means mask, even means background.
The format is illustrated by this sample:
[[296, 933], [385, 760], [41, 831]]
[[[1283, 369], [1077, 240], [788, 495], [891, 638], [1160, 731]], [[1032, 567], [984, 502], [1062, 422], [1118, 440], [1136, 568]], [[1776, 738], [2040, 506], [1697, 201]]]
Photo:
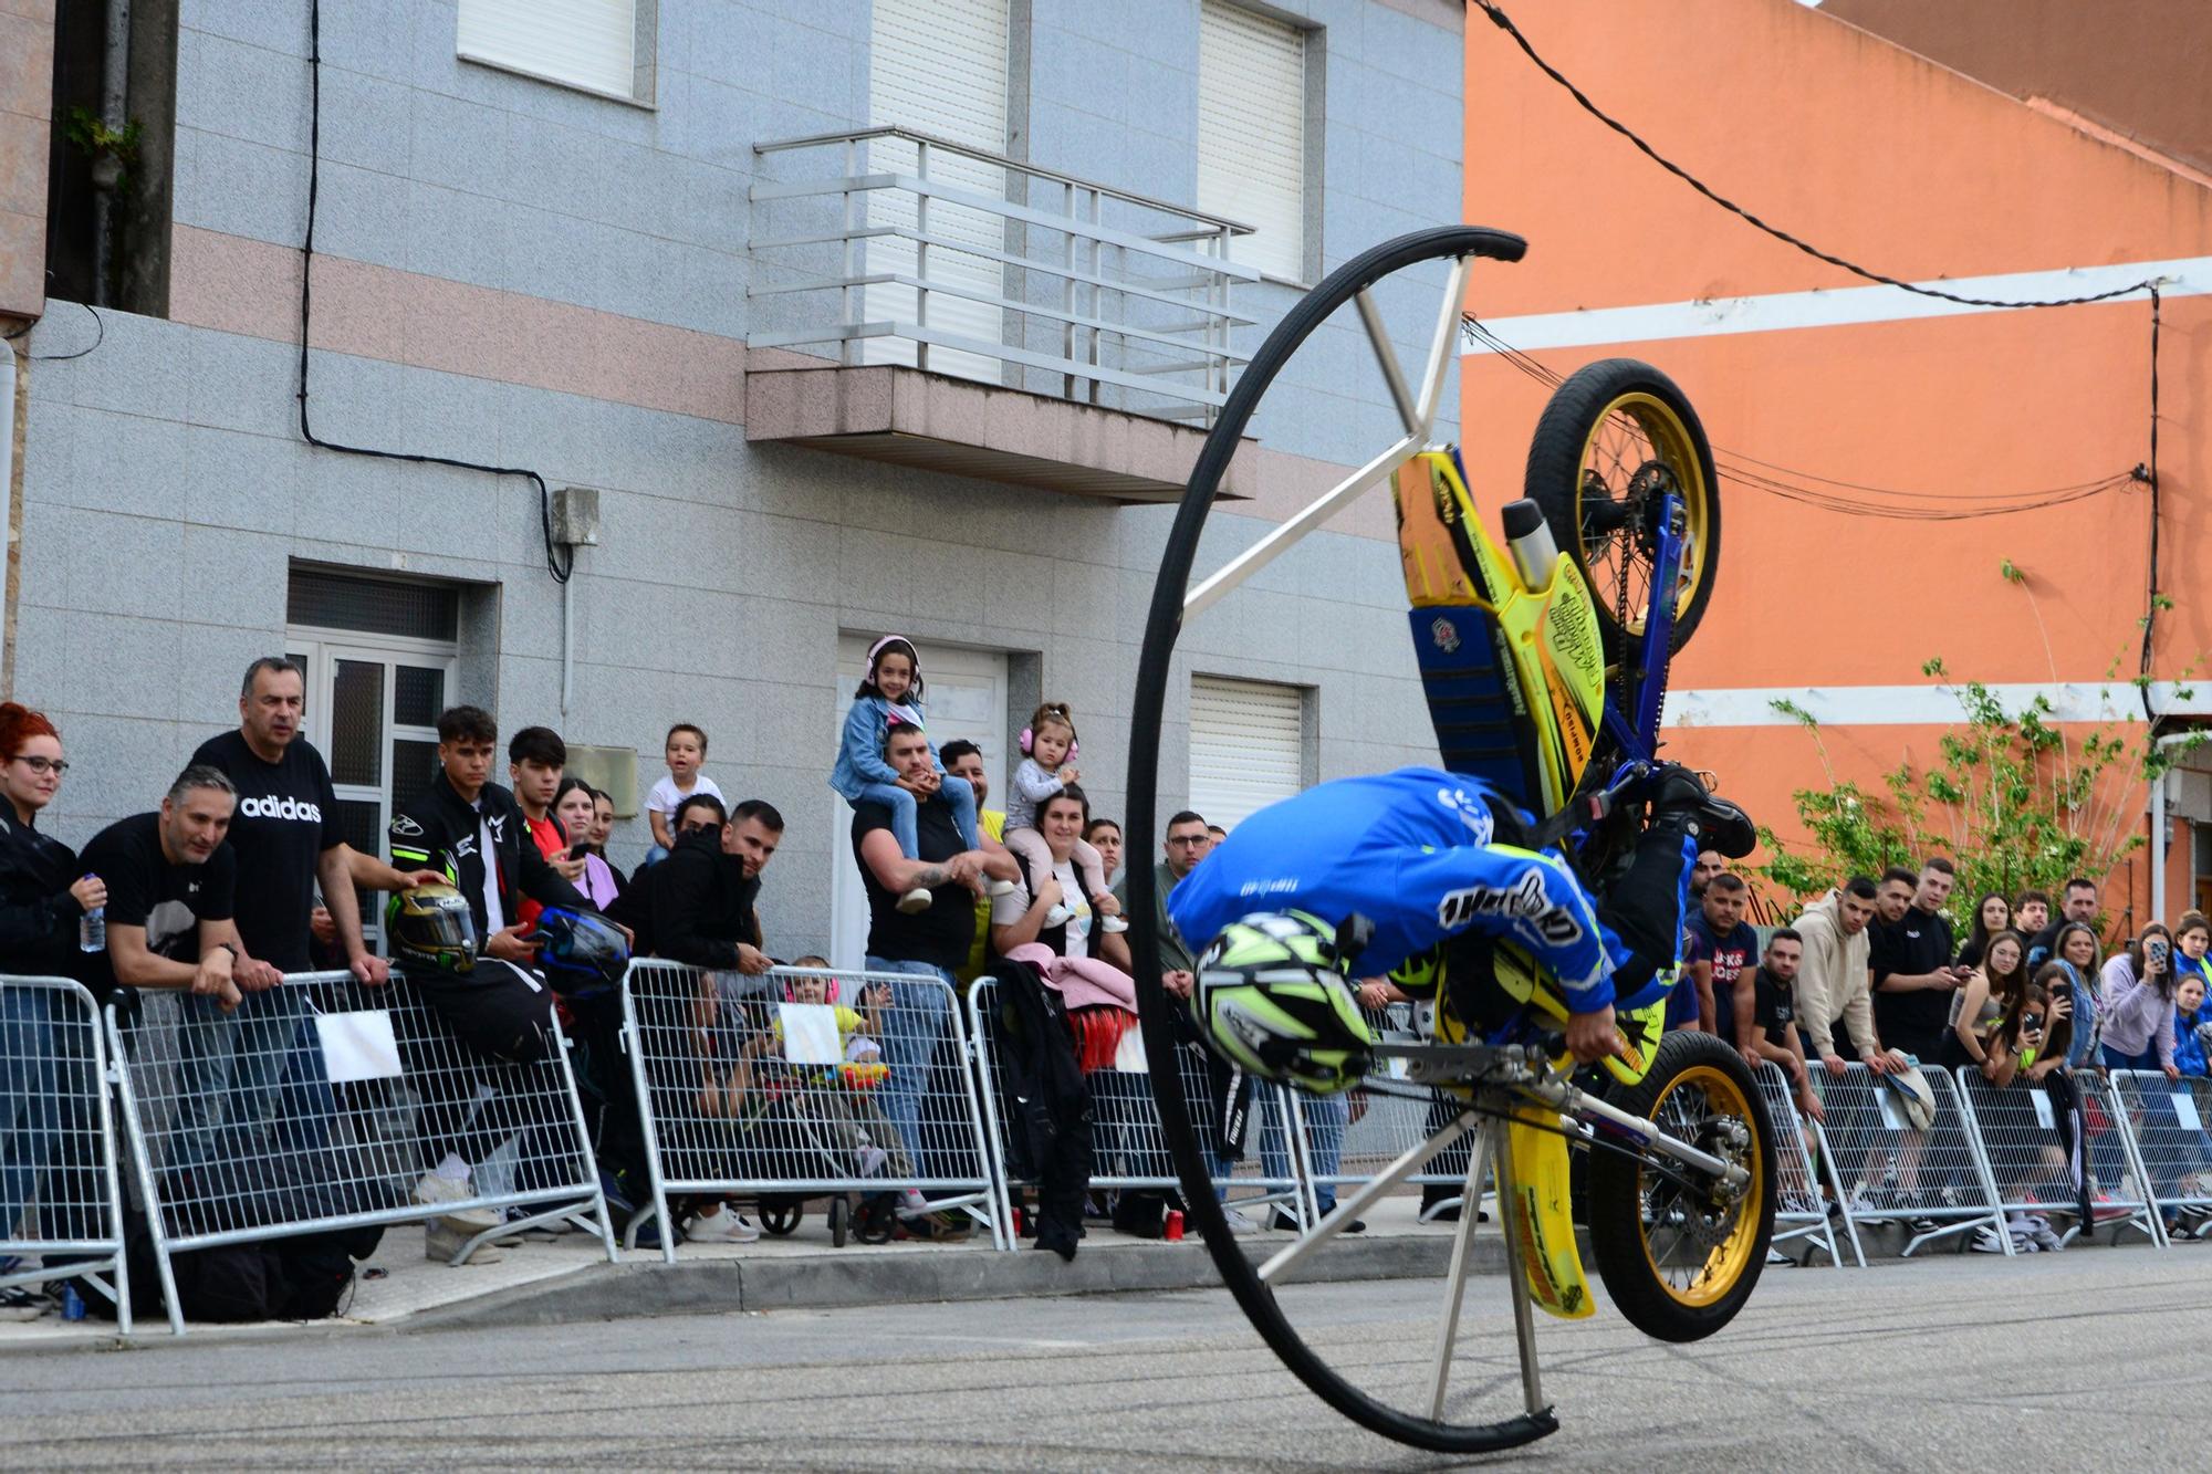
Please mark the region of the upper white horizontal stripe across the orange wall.
[[[2070, 266], [2051, 272], [2011, 272], [2004, 277], [1962, 277], [1922, 281], [1920, 286], [1989, 297], [1997, 301], [2046, 301], [2057, 297], [2095, 297], [2143, 279], [2159, 281], [2166, 297], [2199, 297], [2212, 292], [2212, 257], [2174, 261], [2121, 261], [2115, 266]], [[2128, 301], [2128, 299], [2121, 299]], [[2135, 299], [2141, 301], [2141, 299]], [[1504, 343], [1537, 352], [1544, 347], [1593, 347], [1601, 343], [1652, 343], [1663, 339], [1703, 339], [1730, 332], [1778, 332], [1785, 328], [1845, 328], [1854, 323], [1907, 323], [1927, 316], [1964, 316], [1969, 312], [2002, 312], [2004, 308], [1966, 308], [1955, 301], [1920, 297], [1889, 286], [1834, 288], [1812, 292], [1774, 292], [1770, 297], [1714, 297], [1710, 301], [1661, 301], [1639, 308], [1593, 308], [1588, 312], [1531, 312], [1526, 316], [1475, 316]], [[1495, 352], [1486, 345], [1467, 356]]]

